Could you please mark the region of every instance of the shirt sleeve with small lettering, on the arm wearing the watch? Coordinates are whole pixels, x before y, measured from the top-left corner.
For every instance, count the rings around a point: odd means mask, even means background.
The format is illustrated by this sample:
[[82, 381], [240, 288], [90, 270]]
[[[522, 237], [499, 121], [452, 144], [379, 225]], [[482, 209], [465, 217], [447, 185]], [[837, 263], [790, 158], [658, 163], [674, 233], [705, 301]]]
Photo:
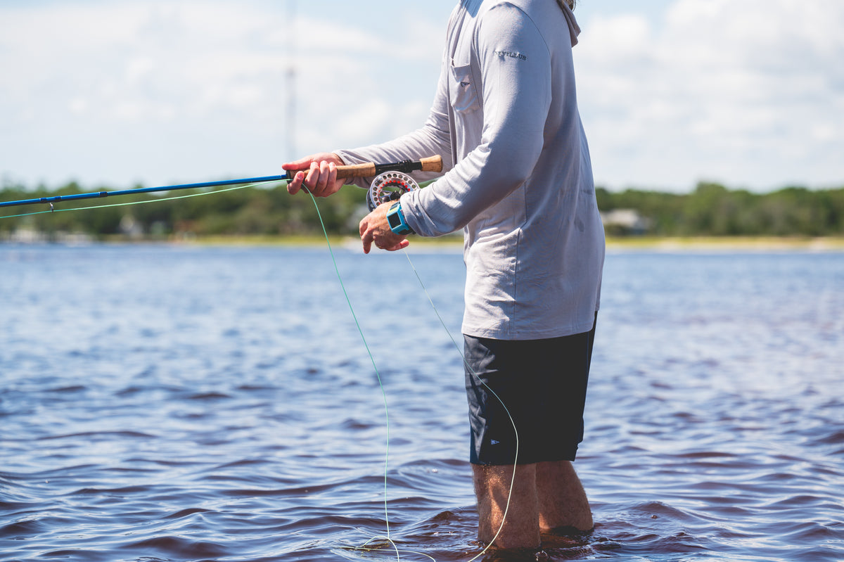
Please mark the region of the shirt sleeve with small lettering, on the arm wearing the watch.
[[543, 149], [551, 62], [533, 21], [500, 4], [463, 41], [475, 44], [470, 57], [446, 58], [442, 74], [452, 81], [450, 103], [463, 122], [457, 148], [475, 146], [439, 181], [402, 198], [422, 235], [459, 230], [499, 203], [532, 174]]

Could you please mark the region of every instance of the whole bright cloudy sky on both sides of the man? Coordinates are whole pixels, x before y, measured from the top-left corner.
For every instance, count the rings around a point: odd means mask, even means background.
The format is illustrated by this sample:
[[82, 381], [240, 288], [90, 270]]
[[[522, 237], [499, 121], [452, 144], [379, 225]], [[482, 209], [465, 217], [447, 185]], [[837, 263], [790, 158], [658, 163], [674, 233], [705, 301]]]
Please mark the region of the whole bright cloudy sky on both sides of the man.
[[[430, 109], [455, 0], [3, 0], [0, 186], [281, 173]], [[844, 2], [579, 0], [596, 183], [844, 186]]]

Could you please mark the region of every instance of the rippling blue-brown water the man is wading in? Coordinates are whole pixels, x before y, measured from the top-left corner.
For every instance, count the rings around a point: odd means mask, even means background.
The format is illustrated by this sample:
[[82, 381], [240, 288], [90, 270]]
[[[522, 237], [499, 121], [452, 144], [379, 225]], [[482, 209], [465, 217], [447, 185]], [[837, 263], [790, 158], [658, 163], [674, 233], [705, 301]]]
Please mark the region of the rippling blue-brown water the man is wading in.
[[[478, 555], [460, 356], [405, 257], [337, 251], [383, 394], [324, 247], [0, 245], [0, 560]], [[461, 257], [411, 257], [458, 334]], [[596, 529], [548, 559], [844, 559], [842, 289], [841, 253], [610, 252]]]

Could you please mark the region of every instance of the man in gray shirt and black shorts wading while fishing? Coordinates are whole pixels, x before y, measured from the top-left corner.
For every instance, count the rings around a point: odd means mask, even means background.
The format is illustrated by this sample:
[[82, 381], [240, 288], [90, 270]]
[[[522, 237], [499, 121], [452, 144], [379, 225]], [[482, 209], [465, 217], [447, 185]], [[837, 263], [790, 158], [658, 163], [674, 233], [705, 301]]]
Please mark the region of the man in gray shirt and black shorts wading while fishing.
[[569, 1], [462, 0], [423, 127], [284, 165], [302, 170], [289, 192], [306, 186], [327, 197], [343, 185], [336, 165], [443, 156], [443, 176], [376, 208], [360, 236], [365, 252], [394, 251], [408, 236], [463, 229], [470, 462], [479, 539], [500, 548], [537, 548], [540, 532], [556, 527], [592, 529], [571, 461], [604, 239], [577, 110], [571, 48], [580, 29]]

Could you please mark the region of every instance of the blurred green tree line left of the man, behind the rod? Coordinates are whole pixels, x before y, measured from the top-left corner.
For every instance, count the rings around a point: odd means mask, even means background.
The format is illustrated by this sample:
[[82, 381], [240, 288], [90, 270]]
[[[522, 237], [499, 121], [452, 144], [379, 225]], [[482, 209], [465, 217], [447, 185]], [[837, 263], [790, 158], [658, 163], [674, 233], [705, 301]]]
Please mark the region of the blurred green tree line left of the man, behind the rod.
[[[0, 191], [0, 202], [91, 191], [112, 190], [83, 189], [76, 183], [54, 191], [7, 187]], [[357, 233], [358, 221], [354, 217], [363, 213], [365, 195], [363, 189], [346, 186], [333, 197], [317, 199], [318, 211], [305, 192], [290, 196], [284, 185], [98, 197], [54, 203], [52, 212], [46, 203], [37, 203], [0, 208], [0, 217], [6, 217], [0, 219], [0, 237], [8, 239], [20, 230], [43, 233], [48, 239], [74, 233], [100, 240], [114, 237], [322, 235], [322, 224], [328, 234], [346, 235]], [[13, 214], [20, 216], [9, 217]]]

